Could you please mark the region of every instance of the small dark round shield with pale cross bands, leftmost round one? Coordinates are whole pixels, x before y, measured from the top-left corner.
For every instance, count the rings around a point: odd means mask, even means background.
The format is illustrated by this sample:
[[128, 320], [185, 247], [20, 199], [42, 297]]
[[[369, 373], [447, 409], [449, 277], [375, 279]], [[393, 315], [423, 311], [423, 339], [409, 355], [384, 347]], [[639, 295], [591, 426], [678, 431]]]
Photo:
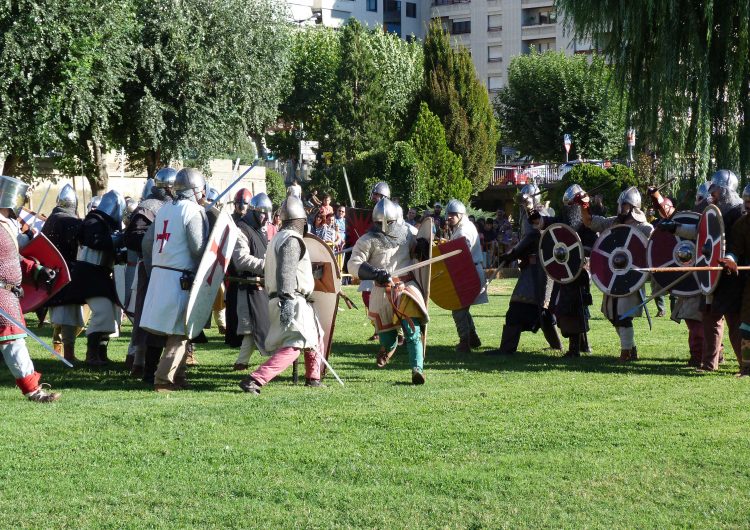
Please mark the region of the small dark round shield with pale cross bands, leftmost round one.
[[581, 238], [568, 225], [549, 225], [539, 239], [539, 257], [547, 276], [559, 283], [571, 283], [583, 269]]

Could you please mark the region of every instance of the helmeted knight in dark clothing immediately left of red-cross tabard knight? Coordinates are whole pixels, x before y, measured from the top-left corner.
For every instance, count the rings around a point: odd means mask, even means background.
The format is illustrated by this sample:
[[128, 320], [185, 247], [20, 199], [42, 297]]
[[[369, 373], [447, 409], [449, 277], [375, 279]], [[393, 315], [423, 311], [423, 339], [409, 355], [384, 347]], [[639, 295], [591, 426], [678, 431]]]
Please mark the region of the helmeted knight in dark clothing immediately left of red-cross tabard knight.
[[[140, 326], [143, 303], [148, 290], [149, 270], [143, 262], [143, 237], [154, 224], [156, 214], [167, 201], [174, 186], [177, 170], [171, 167], [161, 168], [154, 175], [152, 184], [146, 184], [143, 198], [130, 216], [130, 223], [125, 230], [125, 246], [136, 256], [136, 291], [133, 309], [133, 330], [125, 365], [131, 369], [131, 375], [142, 377], [144, 382], [153, 384], [156, 365], [164, 348], [161, 336], [151, 335]], [[149, 179], [150, 180], [150, 179]]]

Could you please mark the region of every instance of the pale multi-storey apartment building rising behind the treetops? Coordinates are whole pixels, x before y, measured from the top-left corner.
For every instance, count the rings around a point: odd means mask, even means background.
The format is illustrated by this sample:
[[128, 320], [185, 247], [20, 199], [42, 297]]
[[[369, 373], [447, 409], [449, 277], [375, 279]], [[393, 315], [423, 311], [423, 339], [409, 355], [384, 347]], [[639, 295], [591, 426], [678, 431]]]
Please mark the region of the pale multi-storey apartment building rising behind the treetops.
[[[431, 20], [440, 20], [453, 45], [471, 52], [477, 76], [490, 96], [507, 81], [510, 60], [532, 48], [590, 54], [588, 42], [572, 38], [557, 16], [554, 0], [287, 0], [299, 23], [338, 27], [349, 17], [408, 39], [423, 38]], [[307, 21], [307, 22], [305, 22]]]

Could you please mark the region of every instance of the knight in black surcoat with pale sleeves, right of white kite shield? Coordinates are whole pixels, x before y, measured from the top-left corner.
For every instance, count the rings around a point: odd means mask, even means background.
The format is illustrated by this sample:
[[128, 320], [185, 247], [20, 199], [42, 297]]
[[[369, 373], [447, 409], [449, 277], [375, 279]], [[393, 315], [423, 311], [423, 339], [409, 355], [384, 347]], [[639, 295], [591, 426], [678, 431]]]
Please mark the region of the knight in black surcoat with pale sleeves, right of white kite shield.
[[237, 287], [235, 331], [242, 337], [240, 353], [234, 362], [234, 369], [237, 371], [247, 370], [253, 349], [266, 355], [266, 332], [270, 321], [268, 292], [263, 287], [263, 277], [268, 239], [262, 227], [272, 210], [273, 205], [268, 195], [258, 193], [250, 199], [245, 214], [237, 223], [240, 233], [232, 253], [236, 277], [230, 277], [230, 285]]

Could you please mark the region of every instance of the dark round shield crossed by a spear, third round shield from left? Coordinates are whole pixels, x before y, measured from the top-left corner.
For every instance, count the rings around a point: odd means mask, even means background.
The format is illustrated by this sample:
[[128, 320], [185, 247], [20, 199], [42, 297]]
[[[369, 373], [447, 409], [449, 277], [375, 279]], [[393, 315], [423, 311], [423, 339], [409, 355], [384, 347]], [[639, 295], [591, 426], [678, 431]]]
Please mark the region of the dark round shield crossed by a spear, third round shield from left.
[[[696, 226], [701, 216], [696, 212], [677, 212], [671, 220], [682, 225]], [[695, 265], [695, 241], [684, 239], [677, 234], [670, 234], [664, 230], [654, 230], [648, 240], [649, 267], [689, 267]], [[661, 287], [677, 281], [684, 272], [654, 272], [653, 280]], [[698, 273], [688, 275], [675, 285], [671, 291], [677, 296], [693, 296], [699, 294]]]

